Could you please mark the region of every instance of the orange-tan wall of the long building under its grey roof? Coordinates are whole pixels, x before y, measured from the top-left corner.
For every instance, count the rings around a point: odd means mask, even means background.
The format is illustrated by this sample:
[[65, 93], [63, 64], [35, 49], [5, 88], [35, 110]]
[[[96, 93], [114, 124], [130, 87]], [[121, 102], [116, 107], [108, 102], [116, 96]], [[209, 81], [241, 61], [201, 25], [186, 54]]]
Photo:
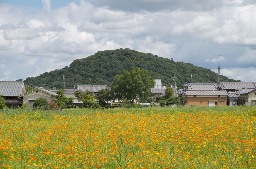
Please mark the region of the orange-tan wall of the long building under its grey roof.
[[[203, 101], [202, 101], [203, 100]], [[185, 96], [185, 102], [187, 103], [187, 106], [209, 106], [209, 101], [218, 101], [218, 106], [226, 106], [227, 105], [227, 97], [202, 97], [202, 96], [196, 96], [196, 97], [188, 97]], [[220, 101], [224, 101], [224, 103], [221, 103]]]

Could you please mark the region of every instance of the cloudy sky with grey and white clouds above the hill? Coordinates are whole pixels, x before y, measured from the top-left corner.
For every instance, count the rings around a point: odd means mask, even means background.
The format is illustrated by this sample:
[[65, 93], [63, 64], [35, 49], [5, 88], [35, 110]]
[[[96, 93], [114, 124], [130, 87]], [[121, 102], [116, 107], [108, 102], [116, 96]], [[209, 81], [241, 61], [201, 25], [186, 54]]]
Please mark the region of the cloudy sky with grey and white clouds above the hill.
[[256, 0], [0, 0], [0, 81], [127, 47], [256, 81]]

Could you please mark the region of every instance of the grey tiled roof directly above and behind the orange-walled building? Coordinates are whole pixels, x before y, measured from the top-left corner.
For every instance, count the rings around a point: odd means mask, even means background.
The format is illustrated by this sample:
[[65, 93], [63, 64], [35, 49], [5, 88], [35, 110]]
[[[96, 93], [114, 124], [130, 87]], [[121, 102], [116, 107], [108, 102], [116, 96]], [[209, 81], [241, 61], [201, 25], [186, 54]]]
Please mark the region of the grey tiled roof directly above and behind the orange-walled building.
[[218, 90], [217, 83], [188, 83], [185, 90]]

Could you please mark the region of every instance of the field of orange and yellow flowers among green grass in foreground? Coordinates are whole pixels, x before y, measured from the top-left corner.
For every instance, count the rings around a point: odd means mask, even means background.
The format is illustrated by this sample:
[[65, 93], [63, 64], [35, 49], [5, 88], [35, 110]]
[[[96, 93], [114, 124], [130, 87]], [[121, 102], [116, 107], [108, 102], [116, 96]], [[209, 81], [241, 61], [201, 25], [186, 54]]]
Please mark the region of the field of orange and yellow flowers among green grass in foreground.
[[254, 168], [255, 107], [6, 110], [0, 168]]

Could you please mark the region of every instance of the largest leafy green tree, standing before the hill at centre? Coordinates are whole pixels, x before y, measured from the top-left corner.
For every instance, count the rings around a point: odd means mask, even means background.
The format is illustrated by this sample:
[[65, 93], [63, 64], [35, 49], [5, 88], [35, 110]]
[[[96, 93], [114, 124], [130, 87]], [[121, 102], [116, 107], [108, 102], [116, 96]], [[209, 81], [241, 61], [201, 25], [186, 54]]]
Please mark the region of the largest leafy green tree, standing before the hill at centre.
[[129, 72], [123, 71], [123, 74], [116, 75], [112, 83], [112, 90], [115, 92], [115, 99], [126, 99], [130, 105], [138, 97], [146, 100], [150, 96], [150, 88], [154, 87], [155, 81], [150, 76], [150, 72], [143, 68], [133, 67]]

